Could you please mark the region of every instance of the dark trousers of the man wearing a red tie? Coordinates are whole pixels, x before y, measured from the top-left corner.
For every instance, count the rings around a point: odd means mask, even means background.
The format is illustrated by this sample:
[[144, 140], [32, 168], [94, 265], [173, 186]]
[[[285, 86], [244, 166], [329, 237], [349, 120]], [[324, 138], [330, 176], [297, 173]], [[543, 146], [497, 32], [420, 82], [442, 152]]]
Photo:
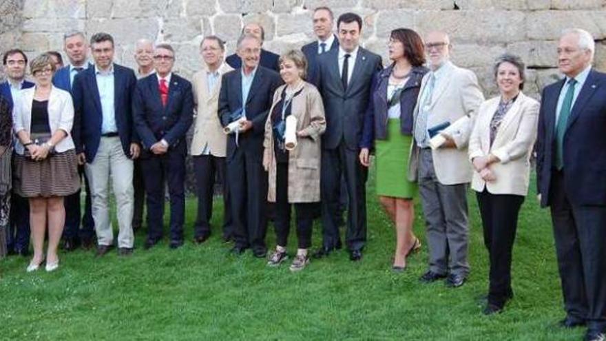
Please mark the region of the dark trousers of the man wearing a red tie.
[[170, 238], [183, 240], [185, 222], [185, 143], [163, 155], [142, 159], [147, 195], [147, 237], [158, 240], [163, 235], [165, 181], [170, 196]]

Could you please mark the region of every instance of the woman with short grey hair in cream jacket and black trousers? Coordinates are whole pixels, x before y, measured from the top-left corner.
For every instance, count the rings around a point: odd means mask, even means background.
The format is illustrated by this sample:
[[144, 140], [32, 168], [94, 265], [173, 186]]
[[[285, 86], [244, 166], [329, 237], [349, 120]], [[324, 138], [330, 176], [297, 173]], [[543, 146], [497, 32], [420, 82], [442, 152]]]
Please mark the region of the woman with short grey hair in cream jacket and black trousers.
[[513, 297], [512, 248], [518, 214], [528, 191], [530, 154], [539, 117], [539, 102], [521, 92], [525, 72], [518, 56], [500, 56], [494, 76], [501, 94], [480, 105], [469, 141], [474, 166], [472, 189], [477, 192], [484, 245], [490, 256], [486, 315], [501, 312]]

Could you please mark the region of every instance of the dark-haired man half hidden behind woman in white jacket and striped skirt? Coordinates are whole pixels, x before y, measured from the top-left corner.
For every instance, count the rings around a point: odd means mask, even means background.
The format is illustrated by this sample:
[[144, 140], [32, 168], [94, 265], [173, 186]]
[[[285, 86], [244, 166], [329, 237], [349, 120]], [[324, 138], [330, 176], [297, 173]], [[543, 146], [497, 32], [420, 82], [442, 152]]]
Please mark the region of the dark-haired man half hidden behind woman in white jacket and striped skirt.
[[[19, 49], [8, 50], [2, 57], [2, 64], [7, 80], [0, 83], [0, 94], [8, 101], [12, 111], [13, 98], [19, 90], [33, 87], [34, 83], [25, 81], [25, 68], [28, 57]], [[30, 204], [27, 198], [22, 198], [12, 192], [10, 204], [9, 227], [6, 236], [8, 254], [27, 256], [30, 247]]]

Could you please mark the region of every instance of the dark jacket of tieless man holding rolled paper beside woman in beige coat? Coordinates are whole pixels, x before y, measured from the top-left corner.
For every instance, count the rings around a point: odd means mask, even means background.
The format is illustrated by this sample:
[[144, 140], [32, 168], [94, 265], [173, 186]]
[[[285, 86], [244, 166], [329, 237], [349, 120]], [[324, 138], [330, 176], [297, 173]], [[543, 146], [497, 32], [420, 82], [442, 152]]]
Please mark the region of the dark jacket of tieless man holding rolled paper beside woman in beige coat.
[[[262, 66], [257, 67], [249, 96], [244, 103], [247, 120], [253, 123], [253, 127], [238, 137], [239, 148], [244, 152], [262, 157], [265, 120], [273, 101], [273, 92], [281, 84], [282, 79], [278, 72]], [[242, 69], [227, 72], [222, 77], [218, 113], [221, 125], [225, 127], [231, 123], [231, 114], [238, 110], [242, 110]], [[238, 145], [235, 134], [230, 134], [227, 137], [227, 158], [233, 156]]]

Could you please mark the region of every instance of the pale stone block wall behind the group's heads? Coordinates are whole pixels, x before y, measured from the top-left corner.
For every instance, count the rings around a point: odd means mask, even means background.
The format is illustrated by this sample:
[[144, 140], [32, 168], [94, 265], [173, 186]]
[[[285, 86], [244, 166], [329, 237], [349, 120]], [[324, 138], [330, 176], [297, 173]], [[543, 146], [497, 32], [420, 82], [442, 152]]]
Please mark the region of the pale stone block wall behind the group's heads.
[[526, 92], [536, 95], [557, 76], [556, 39], [571, 26], [594, 34], [596, 66], [606, 70], [606, 0], [3, 0], [0, 52], [19, 46], [33, 56], [61, 50], [65, 31], [106, 31], [116, 39], [118, 62], [134, 65], [136, 39], [166, 41], [176, 48], [178, 72], [190, 76], [206, 34], [226, 40], [231, 53], [242, 24], [260, 21], [265, 47], [280, 53], [313, 39], [310, 9], [324, 5], [336, 15], [361, 14], [362, 44], [385, 62], [393, 28], [446, 30], [452, 58], [477, 72], [487, 95], [495, 91], [492, 61], [505, 51], [523, 56], [530, 68]]

